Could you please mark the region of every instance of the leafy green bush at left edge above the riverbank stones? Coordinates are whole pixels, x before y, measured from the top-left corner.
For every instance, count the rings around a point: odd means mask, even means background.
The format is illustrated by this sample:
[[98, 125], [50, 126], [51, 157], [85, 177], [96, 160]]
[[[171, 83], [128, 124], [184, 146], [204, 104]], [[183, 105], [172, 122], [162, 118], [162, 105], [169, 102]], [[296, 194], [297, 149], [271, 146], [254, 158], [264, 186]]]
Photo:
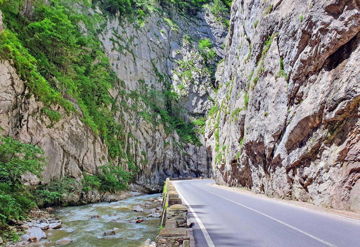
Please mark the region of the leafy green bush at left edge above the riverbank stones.
[[[28, 172], [40, 176], [46, 164], [44, 152], [34, 145], [21, 143], [10, 137], [0, 136], [0, 233], [8, 230], [7, 223], [21, 219], [35, 205], [22, 176]], [[10, 238], [18, 238], [11, 234]]]

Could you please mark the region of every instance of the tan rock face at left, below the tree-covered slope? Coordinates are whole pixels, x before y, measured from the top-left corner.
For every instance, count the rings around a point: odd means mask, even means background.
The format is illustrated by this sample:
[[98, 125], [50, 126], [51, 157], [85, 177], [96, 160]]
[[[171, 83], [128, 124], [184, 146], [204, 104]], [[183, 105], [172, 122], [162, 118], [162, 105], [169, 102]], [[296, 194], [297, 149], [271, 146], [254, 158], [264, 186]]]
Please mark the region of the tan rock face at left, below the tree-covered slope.
[[5, 135], [44, 150], [49, 163], [42, 174], [45, 183], [61, 176], [82, 178], [82, 172], [94, 173], [97, 166], [108, 162], [107, 147], [76, 113], [67, 115], [56, 106], [54, 110], [63, 118], [51, 123], [42, 113], [42, 103], [28, 93], [8, 61], [0, 62], [0, 71], [0, 126]]

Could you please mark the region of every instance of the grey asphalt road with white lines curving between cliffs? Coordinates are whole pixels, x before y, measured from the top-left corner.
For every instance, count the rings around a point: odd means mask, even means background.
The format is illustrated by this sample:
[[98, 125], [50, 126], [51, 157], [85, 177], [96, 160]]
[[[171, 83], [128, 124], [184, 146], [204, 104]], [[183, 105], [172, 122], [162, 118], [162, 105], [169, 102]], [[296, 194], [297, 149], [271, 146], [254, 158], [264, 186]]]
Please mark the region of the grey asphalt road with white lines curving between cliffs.
[[172, 182], [197, 247], [360, 247], [359, 221], [210, 185], [214, 180]]

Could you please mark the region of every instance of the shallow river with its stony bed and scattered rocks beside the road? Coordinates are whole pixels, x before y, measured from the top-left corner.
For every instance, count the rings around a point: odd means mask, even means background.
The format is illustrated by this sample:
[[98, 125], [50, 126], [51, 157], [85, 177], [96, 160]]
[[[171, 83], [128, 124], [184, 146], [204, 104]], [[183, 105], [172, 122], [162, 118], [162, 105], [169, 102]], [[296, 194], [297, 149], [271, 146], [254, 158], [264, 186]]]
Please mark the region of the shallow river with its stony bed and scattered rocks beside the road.
[[154, 194], [58, 208], [53, 215], [19, 226], [27, 233], [16, 246], [153, 246], [161, 202], [161, 194]]

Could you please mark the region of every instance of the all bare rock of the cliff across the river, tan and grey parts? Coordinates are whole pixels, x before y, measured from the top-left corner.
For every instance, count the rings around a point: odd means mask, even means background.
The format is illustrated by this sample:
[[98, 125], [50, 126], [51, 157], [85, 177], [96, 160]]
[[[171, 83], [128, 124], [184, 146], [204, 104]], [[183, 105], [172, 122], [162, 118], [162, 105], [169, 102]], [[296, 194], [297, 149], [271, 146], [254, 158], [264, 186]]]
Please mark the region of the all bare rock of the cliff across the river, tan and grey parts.
[[[214, 92], [196, 41], [210, 38], [221, 58], [226, 30], [215, 21], [208, 7], [192, 18], [178, 15], [174, 9], [157, 7], [141, 25], [123, 17], [108, 18], [99, 34], [121, 81], [109, 93], [117, 102], [116, 121], [126, 135], [127, 157], [108, 160], [108, 147], [81, 122], [80, 113], [67, 115], [61, 107], [53, 106], [62, 119], [52, 123], [42, 114], [42, 104], [28, 93], [11, 61], [0, 62], [0, 126], [4, 134], [44, 149], [49, 157], [43, 173], [45, 183], [61, 176], [82, 178], [84, 172], [92, 174], [96, 167], [108, 162], [127, 167], [129, 157], [139, 170], [132, 190], [159, 191], [166, 177], [212, 176], [202, 134], [202, 146], [180, 144], [176, 131], [166, 131], [163, 124], [154, 124], [144, 117], [150, 109], [139, 95], [150, 89], [174, 88], [181, 95], [177, 104], [186, 120], [205, 116], [210, 107], [207, 97]], [[187, 77], [181, 63], [191, 63], [191, 68], [185, 68], [190, 71]], [[68, 99], [81, 112], [76, 101]], [[158, 115], [157, 120], [160, 118]]]

